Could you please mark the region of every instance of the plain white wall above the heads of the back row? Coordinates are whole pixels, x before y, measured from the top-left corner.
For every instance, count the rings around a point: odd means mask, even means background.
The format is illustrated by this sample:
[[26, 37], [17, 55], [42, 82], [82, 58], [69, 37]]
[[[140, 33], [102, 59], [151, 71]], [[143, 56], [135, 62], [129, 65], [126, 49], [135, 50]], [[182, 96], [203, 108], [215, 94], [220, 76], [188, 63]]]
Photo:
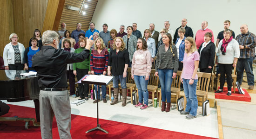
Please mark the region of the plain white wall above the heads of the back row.
[[[183, 18], [188, 19], [195, 33], [201, 29], [203, 20], [208, 21], [208, 28], [217, 35], [223, 30], [223, 21], [230, 20], [230, 28], [236, 35], [240, 26], [247, 24], [249, 31], [256, 33], [256, 0], [99, 0], [92, 21], [95, 28], [102, 31], [102, 25], [108, 24], [108, 30], [115, 28], [119, 32], [121, 24], [132, 25], [136, 22], [141, 33], [155, 24], [160, 31], [164, 20], [170, 20], [170, 28], [176, 30]], [[143, 36], [143, 34], [142, 34]]]

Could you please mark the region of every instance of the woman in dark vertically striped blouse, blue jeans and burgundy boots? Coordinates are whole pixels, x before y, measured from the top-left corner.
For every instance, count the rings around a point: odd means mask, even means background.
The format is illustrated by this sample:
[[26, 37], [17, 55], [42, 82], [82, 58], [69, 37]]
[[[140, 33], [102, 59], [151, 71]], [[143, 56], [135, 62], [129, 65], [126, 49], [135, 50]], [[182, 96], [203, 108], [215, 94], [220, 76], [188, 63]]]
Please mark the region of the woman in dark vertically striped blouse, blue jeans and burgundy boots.
[[[163, 44], [159, 46], [156, 55], [155, 76], [159, 75], [162, 92], [162, 112], [169, 112], [171, 107], [172, 78], [178, 70], [178, 57], [175, 45], [171, 44], [172, 36], [166, 33], [162, 36]], [[167, 100], [167, 107], [165, 101]]]

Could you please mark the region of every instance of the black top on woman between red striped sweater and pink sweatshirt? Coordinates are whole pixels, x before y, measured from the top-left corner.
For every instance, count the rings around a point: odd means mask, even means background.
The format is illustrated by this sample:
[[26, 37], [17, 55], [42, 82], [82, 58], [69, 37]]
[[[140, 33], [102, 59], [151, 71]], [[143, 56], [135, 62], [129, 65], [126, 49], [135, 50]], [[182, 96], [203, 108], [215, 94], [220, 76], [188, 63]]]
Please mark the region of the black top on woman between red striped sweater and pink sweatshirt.
[[127, 49], [123, 51], [111, 50], [108, 57], [108, 66], [112, 66], [111, 73], [114, 76], [123, 74], [125, 64], [129, 64], [129, 52]]

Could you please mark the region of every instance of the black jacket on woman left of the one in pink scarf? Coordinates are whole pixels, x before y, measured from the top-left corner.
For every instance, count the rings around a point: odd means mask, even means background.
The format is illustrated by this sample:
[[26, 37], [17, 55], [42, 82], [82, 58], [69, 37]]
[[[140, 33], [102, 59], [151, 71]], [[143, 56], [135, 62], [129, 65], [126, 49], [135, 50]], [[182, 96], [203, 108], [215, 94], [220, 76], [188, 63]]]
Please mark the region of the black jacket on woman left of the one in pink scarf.
[[214, 59], [215, 59], [216, 46], [213, 42], [210, 42], [205, 46], [205, 48], [203, 48], [202, 53], [200, 53], [202, 49], [202, 44], [198, 49], [198, 52], [200, 54], [199, 68], [205, 69], [205, 68], [208, 68], [208, 66], [213, 67], [215, 64]]

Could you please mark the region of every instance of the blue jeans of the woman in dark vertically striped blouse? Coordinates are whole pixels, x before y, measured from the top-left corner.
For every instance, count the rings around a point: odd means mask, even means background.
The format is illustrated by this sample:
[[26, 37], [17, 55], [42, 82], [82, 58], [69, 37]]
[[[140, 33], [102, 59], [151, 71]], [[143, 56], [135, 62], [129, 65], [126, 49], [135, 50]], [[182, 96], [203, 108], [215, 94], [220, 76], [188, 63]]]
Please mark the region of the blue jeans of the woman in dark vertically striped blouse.
[[171, 102], [171, 85], [173, 69], [158, 69], [158, 76], [161, 83], [162, 101]]

